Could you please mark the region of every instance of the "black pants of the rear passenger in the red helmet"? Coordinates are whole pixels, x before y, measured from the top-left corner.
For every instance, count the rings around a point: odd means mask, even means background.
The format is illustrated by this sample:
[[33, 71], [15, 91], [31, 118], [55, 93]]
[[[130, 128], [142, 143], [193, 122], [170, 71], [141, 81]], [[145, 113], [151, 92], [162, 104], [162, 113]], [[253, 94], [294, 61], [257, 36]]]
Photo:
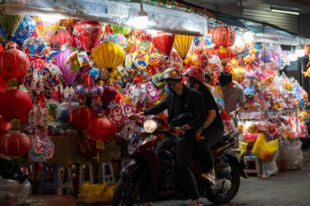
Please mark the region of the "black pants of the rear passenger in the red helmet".
[[203, 165], [208, 171], [214, 168], [214, 160], [210, 150], [210, 147], [216, 144], [224, 134], [224, 128], [221, 126], [207, 127], [201, 136], [205, 139], [200, 139], [196, 142], [196, 150], [199, 155], [199, 159], [203, 162]]

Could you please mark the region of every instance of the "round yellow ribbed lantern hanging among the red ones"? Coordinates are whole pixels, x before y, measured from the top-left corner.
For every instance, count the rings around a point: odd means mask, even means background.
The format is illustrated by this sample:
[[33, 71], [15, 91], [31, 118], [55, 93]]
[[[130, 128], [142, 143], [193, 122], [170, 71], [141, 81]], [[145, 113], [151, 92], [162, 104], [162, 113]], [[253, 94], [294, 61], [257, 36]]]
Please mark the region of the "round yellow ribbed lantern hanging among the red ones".
[[112, 42], [104, 42], [93, 53], [94, 62], [101, 68], [111, 71], [125, 60], [124, 49]]

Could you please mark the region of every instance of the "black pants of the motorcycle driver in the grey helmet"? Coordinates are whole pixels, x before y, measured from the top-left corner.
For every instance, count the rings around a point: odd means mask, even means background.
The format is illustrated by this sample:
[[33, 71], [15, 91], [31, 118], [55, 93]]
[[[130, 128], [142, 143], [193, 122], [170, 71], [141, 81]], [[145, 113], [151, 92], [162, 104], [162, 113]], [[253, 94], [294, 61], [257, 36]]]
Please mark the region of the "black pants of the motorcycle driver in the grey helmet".
[[183, 175], [184, 182], [190, 192], [191, 199], [198, 200], [199, 193], [196, 180], [189, 166], [195, 152], [195, 141], [185, 140], [184, 136], [177, 139], [173, 135], [169, 135], [158, 145], [156, 150], [169, 151], [173, 146], [176, 147], [176, 169]]

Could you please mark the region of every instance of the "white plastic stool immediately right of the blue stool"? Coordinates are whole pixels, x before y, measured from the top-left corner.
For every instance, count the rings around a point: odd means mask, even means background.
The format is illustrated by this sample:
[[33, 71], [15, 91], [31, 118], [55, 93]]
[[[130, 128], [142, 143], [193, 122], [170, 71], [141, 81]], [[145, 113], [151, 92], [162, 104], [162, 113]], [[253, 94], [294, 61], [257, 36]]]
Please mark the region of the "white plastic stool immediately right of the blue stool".
[[[63, 174], [61, 174], [61, 171]], [[67, 193], [74, 193], [70, 165], [58, 165], [57, 173], [58, 189], [60, 190], [60, 194], [62, 195], [62, 190], [65, 188], [70, 188], [70, 192], [67, 191]]]

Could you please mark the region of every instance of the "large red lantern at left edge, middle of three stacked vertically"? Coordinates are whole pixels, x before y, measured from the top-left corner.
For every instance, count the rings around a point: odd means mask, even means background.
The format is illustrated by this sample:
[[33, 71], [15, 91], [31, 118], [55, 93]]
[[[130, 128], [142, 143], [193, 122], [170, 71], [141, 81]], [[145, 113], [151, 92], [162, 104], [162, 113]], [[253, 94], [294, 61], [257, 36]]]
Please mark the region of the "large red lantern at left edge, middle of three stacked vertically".
[[17, 89], [16, 79], [9, 80], [7, 91], [0, 94], [0, 115], [6, 120], [25, 119], [32, 108], [28, 93]]

